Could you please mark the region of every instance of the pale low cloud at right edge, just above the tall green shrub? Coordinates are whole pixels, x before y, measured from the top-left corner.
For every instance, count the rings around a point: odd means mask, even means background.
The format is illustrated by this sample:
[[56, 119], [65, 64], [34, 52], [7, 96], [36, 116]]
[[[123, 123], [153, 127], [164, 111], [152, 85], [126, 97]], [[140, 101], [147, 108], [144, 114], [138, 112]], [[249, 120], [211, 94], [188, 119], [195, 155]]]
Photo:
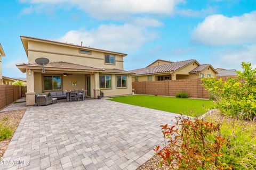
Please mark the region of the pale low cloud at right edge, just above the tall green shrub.
[[250, 62], [256, 66], [256, 44], [244, 45], [213, 53], [214, 66], [226, 69], [241, 70], [242, 62]]

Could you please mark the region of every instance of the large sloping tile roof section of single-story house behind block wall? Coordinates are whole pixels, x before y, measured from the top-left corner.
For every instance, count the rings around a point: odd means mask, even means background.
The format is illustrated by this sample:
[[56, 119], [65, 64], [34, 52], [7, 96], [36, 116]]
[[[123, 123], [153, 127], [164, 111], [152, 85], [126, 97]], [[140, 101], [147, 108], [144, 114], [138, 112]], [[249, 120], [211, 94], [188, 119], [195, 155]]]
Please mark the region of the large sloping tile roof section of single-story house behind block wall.
[[194, 59], [186, 60], [186, 61], [180, 61], [180, 62], [167, 63], [167, 64], [163, 64], [163, 65], [158, 65], [158, 66], [145, 67], [142, 69], [135, 69], [135, 70], [130, 70], [130, 71], [134, 72], [135, 75], [171, 72], [171, 71], [177, 71], [177, 70], [181, 69], [182, 67], [184, 67], [190, 63], [193, 63], [193, 62], [197, 62], [197, 61]]

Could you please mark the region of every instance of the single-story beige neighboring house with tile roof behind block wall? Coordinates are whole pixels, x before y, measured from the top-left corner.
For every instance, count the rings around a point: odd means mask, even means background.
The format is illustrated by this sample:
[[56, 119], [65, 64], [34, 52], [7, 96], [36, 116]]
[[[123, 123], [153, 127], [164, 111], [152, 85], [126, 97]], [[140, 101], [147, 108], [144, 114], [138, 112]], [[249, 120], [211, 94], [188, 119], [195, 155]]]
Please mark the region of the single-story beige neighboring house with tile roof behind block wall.
[[162, 81], [215, 77], [217, 71], [211, 64], [199, 64], [196, 60], [170, 62], [156, 60], [149, 66], [131, 70], [135, 74], [132, 82], [135, 81]]

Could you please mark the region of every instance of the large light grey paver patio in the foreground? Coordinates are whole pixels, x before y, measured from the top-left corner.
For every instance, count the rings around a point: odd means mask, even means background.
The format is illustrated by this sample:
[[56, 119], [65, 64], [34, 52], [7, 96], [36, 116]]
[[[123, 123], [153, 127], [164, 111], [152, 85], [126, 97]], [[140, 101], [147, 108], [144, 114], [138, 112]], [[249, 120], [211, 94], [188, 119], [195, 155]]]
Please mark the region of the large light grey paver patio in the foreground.
[[0, 169], [136, 169], [175, 116], [96, 99], [28, 107]]

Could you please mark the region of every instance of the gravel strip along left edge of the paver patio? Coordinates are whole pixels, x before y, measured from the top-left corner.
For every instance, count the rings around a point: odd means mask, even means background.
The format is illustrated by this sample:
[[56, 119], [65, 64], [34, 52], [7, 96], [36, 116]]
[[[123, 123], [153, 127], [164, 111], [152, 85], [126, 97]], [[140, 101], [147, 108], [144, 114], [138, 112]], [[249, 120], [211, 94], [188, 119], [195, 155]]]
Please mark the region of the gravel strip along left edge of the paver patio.
[[[0, 120], [2, 120], [4, 117], [8, 117], [10, 121], [10, 125], [14, 126], [13, 134], [18, 127], [21, 118], [23, 117], [24, 113], [26, 112], [26, 109], [19, 110], [19, 111], [9, 111], [9, 112], [1, 112], [0, 113]], [[2, 159], [5, 150], [7, 149], [12, 137], [9, 139], [5, 139], [0, 141], [0, 160]]]

